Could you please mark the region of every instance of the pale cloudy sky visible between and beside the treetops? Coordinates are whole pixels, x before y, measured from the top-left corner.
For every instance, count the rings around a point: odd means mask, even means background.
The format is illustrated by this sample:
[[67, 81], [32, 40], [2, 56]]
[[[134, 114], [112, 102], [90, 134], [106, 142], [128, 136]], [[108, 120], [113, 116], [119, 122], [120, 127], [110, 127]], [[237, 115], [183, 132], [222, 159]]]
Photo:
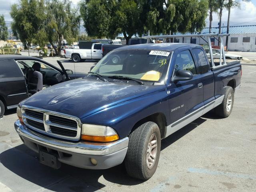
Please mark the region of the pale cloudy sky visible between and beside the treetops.
[[[74, 5], [77, 5], [80, 0], [72, 0]], [[10, 23], [10, 7], [18, 0], [0, 0], [0, 15], [4, 15], [6, 23]], [[213, 15], [212, 27], [218, 27], [218, 14]], [[228, 11], [224, 10], [222, 14], [222, 23], [227, 25]], [[256, 24], [256, 0], [242, 2], [241, 8], [232, 9], [230, 14], [230, 25], [255, 25]], [[209, 17], [206, 18], [206, 27], [209, 26]]]

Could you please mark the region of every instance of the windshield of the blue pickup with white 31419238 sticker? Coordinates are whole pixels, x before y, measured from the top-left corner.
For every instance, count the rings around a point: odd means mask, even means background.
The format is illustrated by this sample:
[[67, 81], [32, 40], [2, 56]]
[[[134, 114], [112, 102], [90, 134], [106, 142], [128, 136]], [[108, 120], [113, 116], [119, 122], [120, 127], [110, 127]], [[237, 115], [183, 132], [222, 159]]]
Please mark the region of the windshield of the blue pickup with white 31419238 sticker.
[[162, 82], [171, 53], [159, 50], [114, 50], [103, 57], [91, 72], [101, 76], [126, 76], [141, 81]]

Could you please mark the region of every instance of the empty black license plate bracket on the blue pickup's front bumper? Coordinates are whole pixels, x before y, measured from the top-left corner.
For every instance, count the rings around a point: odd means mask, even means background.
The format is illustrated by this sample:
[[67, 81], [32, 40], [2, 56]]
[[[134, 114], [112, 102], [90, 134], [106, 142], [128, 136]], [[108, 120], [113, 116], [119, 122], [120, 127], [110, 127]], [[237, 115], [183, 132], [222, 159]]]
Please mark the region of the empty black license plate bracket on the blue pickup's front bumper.
[[39, 150], [39, 162], [52, 167], [54, 169], [59, 169], [61, 166], [61, 162], [58, 160], [56, 154], [50, 154], [48, 152], [40, 151]]

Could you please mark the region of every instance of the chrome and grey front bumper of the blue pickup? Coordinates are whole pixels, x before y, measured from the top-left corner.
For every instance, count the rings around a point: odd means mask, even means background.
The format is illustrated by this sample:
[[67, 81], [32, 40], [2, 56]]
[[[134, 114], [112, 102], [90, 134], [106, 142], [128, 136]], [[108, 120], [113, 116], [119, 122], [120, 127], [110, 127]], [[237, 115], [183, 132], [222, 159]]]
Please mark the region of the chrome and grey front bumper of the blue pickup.
[[[14, 127], [24, 144], [34, 152], [55, 153], [60, 162], [80, 168], [114, 167], [124, 161], [128, 149], [128, 137], [108, 143], [68, 142], [38, 134], [22, 125], [20, 120], [14, 123]], [[91, 158], [98, 162], [97, 165], [92, 164]]]

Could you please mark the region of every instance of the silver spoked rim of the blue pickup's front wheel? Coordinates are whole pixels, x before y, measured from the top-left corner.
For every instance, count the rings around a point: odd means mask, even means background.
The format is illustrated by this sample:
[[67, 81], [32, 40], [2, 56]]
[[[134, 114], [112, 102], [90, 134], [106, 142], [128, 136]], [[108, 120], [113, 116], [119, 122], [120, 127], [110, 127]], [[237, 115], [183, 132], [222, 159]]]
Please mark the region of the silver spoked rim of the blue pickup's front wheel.
[[157, 136], [156, 134], [152, 134], [150, 137], [150, 140], [148, 142], [148, 148], [147, 148], [147, 166], [149, 169], [151, 169], [156, 160], [156, 154], [157, 154]]

